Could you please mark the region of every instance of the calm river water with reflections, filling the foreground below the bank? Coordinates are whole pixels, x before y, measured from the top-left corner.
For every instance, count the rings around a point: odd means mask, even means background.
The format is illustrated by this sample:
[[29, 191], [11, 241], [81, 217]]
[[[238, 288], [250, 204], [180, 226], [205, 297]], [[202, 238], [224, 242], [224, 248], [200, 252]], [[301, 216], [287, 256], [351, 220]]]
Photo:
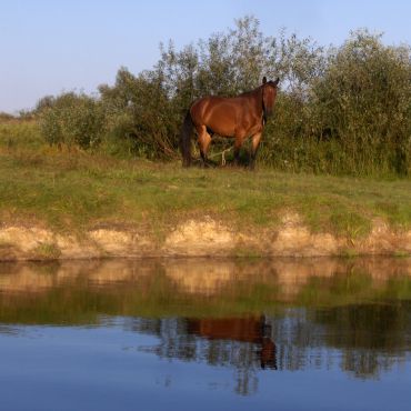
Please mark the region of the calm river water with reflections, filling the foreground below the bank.
[[409, 410], [411, 260], [0, 264], [1, 410]]

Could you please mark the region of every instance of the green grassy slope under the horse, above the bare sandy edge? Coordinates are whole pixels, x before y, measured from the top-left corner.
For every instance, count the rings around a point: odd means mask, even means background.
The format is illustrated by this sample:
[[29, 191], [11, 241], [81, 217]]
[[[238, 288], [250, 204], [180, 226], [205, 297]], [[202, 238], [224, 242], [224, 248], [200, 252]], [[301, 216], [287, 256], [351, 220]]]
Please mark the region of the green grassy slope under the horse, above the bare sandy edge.
[[211, 215], [241, 228], [275, 225], [294, 210], [314, 231], [351, 238], [375, 218], [411, 228], [411, 180], [285, 174], [260, 168], [181, 169], [44, 146], [36, 123], [0, 123], [0, 219], [58, 230], [96, 224], [152, 232]]

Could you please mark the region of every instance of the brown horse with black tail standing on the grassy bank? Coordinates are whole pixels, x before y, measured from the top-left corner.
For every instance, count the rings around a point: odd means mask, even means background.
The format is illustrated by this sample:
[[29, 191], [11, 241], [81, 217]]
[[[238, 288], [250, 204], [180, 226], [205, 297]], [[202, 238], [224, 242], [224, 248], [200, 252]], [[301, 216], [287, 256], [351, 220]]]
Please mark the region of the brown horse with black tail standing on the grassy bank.
[[242, 94], [223, 97], [203, 97], [192, 103], [181, 128], [180, 148], [183, 167], [191, 163], [191, 136], [196, 128], [203, 164], [207, 166], [207, 152], [213, 134], [234, 138], [234, 162], [238, 163], [240, 148], [244, 139], [251, 137], [252, 150], [250, 167], [254, 167], [255, 154], [267, 118], [272, 112], [280, 79], [267, 81], [255, 90]]

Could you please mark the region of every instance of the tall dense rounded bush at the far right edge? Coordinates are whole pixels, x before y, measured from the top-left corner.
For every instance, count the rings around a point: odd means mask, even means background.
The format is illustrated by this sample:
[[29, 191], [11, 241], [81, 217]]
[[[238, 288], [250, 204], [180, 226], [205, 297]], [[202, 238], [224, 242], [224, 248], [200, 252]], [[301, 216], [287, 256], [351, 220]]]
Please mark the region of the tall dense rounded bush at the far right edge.
[[339, 141], [347, 169], [407, 174], [411, 158], [409, 47], [385, 47], [360, 31], [330, 56], [317, 79], [312, 111], [318, 136]]

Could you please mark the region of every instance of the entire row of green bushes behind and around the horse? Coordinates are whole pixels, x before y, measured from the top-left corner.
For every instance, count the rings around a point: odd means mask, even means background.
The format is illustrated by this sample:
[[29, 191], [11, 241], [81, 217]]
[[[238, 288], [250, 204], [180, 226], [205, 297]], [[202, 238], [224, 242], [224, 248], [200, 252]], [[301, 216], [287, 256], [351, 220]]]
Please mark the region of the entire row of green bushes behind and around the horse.
[[324, 48], [281, 30], [264, 36], [253, 17], [197, 44], [160, 46], [160, 59], [137, 76], [121, 68], [98, 98], [64, 93], [39, 101], [50, 143], [100, 144], [150, 159], [178, 154], [179, 129], [202, 96], [234, 96], [280, 77], [261, 161], [327, 173], [411, 172], [411, 51], [380, 34], [354, 31]]

